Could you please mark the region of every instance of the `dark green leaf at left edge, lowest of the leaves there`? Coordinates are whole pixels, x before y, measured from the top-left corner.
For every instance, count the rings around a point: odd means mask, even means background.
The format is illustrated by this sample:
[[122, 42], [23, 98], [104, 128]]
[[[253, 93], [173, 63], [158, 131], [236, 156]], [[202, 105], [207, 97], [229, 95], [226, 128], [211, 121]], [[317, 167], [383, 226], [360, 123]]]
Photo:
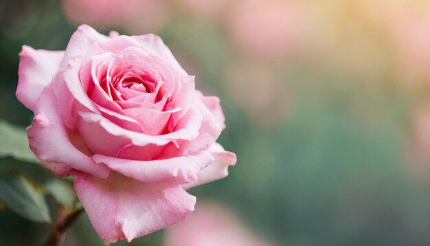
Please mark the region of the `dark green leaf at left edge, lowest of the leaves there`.
[[51, 221], [43, 193], [22, 175], [0, 172], [0, 190], [0, 200], [17, 214], [32, 221]]

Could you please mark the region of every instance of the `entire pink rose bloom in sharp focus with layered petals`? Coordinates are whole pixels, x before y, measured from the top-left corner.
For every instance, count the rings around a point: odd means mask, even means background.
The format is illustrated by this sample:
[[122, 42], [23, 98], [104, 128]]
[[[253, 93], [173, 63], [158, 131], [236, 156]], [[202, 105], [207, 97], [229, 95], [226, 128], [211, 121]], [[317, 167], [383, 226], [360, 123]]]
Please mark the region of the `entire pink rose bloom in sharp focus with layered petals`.
[[23, 46], [16, 96], [34, 111], [30, 148], [73, 187], [105, 241], [187, 218], [185, 190], [227, 176], [236, 155], [215, 140], [216, 97], [194, 89], [153, 34], [111, 36], [82, 25], [65, 51]]

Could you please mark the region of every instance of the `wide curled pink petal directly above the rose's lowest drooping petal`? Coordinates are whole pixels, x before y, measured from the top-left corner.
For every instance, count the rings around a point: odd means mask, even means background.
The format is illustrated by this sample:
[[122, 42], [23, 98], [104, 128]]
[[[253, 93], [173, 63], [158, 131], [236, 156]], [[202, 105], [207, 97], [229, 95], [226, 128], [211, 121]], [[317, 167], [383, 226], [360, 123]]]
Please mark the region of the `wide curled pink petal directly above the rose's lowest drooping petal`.
[[215, 159], [205, 151], [197, 155], [153, 161], [135, 161], [104, 155], [94, 155], [93, 160], [142, 182], [188, 183], [196, 180], [200, 170], [212, 164]]

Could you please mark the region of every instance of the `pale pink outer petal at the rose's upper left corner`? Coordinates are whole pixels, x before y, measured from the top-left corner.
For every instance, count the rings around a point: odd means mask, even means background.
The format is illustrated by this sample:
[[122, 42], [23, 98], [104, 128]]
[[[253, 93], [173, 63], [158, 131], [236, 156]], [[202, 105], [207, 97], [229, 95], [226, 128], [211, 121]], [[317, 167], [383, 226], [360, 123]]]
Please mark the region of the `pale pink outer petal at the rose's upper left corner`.
[[23, 49], [19, 54], [16, 98], [25, 107], [34, 111], [38, 96], [43, 88], [52, 81], [52, 76], [60, 68], [63, 56], [63, 51], [35, 50], [30, 46], [23, 45]]

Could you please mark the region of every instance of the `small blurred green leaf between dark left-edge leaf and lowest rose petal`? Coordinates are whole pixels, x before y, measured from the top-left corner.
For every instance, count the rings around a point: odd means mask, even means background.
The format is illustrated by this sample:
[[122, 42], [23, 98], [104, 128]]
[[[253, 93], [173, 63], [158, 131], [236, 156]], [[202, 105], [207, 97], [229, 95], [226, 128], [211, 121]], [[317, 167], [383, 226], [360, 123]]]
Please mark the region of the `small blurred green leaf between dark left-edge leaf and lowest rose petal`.
[[76, 196], [71, 183], [64, 179], [49, 179], [44, 186], [47, 193], [65, 208], [73, 206]]

